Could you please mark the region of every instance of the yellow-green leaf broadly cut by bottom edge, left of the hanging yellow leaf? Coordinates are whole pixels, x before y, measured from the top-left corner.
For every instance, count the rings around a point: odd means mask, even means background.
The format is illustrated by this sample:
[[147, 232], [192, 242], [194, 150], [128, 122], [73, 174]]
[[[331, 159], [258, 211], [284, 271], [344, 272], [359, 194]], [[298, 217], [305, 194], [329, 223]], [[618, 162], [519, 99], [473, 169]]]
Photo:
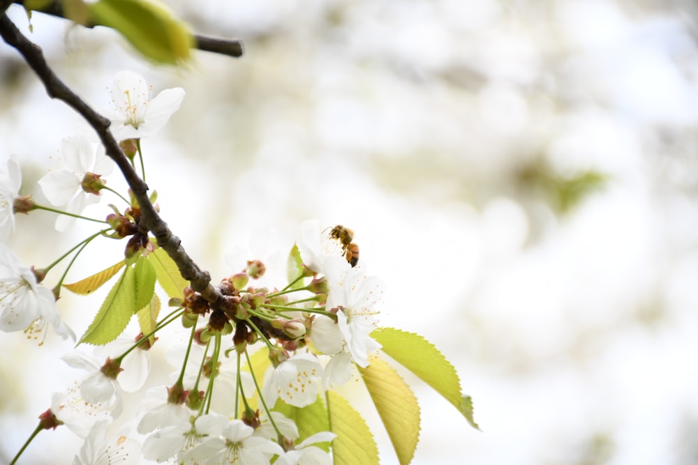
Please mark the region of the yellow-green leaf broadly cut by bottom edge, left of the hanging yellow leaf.
[[378, 465], [378, 447], [366, 421], [336, 392], [327, 391], [334, 465]]

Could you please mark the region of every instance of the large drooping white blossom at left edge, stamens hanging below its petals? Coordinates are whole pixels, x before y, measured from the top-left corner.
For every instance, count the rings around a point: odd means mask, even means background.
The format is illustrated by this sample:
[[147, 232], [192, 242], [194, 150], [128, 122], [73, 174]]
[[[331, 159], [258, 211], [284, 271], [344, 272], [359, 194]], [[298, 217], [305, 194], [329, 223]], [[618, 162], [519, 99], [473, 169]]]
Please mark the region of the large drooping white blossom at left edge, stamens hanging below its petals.
[[50, 324], [63, 339], [75, 340], [75, 333], [61, 319], [50, 289], [36, 282], [36, 275], [20, 264], [6, 245], [0, 243], [0, 330], [24, 330], [43, 344]]

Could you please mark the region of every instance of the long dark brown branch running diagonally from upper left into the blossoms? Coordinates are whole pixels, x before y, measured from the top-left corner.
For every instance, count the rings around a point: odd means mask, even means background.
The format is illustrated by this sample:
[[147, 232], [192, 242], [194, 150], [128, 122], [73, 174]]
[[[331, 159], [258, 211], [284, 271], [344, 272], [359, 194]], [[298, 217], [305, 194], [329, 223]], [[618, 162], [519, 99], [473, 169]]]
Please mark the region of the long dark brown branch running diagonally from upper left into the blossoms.
[[158, 215], [148, 197], [147, 184], [135, 172], [128, 158], [121, 151], [119, 143], [109, 130], [110, 121], [94, 111], [59, 79], [48, 66], [41, 48], [22, 35], [17, 26], [10, 21], [10, 18], [5, 13], [2, 13], [0, 17], [0, 36], [8, 45], [15, 47], [24, 56], [24, 60], [27, 61], [27, 64], [44, 84], [46, 92], [51, 98], [57, 98], [65, 102], [66, 105], [75, 109], [94, 128], [105, 147], [107, 155], [117, 164], [121, 173], [124, 174], [128, 186], [133, 191], [133, 196], [140, 205], [144, 226], [155, 236], [158, 245], [172, 257], [182, 277], [191, 283], [191, 289], [200, 292], [211, 303], [211, 307], [216, 308], [217, 305], [221, 305], [223, 297], [216, 287], [211, 286], [209, 273], [201, 270], [194, 263], [184, 250], [184, 247], [181, 246], [180, 239], [172, 234], [168, 224]]

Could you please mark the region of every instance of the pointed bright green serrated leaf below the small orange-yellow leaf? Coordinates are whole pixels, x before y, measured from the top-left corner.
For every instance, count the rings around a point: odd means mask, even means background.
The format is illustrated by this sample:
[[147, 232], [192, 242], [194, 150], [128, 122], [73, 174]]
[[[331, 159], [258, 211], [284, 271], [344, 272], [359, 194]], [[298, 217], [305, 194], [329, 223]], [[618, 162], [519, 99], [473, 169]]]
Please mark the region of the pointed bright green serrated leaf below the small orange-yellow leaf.
[[126, 329], [135, 308], [135, 271], [126, 266], [124, 273], [107, 294], [89, 328], [77, 344], [104, 345], [112, 342]]

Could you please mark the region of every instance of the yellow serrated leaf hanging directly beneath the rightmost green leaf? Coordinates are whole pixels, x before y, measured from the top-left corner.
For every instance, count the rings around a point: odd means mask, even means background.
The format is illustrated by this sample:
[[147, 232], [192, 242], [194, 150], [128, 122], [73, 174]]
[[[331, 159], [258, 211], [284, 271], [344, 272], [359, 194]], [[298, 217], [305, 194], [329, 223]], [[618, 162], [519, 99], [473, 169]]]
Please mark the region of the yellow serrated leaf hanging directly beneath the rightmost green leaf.
[[419, 404], [397, 372], [380, 358], [359, 368], [401, 465], [412, 462], [419, 441]]

